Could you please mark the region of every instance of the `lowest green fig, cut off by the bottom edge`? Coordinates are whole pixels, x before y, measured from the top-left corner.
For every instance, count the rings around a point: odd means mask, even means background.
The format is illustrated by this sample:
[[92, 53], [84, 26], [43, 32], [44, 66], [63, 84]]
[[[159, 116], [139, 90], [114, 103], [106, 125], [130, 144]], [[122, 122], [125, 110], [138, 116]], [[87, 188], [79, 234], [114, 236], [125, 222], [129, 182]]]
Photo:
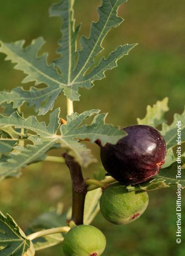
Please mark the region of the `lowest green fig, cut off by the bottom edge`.
[[65, 256], [99, 256], [106, 246], [104, 234], [90, 225], [74, 226], [63, 241]]

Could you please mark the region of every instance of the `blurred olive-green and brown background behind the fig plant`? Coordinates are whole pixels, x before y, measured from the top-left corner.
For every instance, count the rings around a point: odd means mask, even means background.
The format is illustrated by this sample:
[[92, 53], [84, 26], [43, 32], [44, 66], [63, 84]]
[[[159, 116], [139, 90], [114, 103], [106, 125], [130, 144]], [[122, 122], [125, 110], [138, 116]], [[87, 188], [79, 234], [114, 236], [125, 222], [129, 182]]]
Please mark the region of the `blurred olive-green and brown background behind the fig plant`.
[[[46, 40], [43, 51], [48, 51], [50, 60], [55, 57], [57, 40], [60, 38], [60, 19], [49, 18], [48, 8], [53, 0], [6, 0], [1, 1], [0, 38], [5, 42], [43, 36]], [[88, 36], [90, 22], [97, 20], [99, 0], [76, 0], [76, 24], [83, 22], [81, 34]], [[128, 56], [118, 62], [118, 67], [106, 72], [106, 78], [95, 83], [91, 90], [80, 90], [81, 100], [74, 109], [101, 109], [109, 112], [108, 123], [127, 126], [136, 123], [136, 118], [146, 113], [147, 104], [169, 97], [170, 111], [166, 114], [169, 123], [175, 112], [183, 111], [185, 100], [184, 73], [184, 1], [155, 0], [128, 1], [119, 9], [125, 21], [113, 29], [103, 46], [107, 54], [118, 45], [139, 43]], [[0, 55], [0, 90], [10, 90], [21, 84], [23, 72], [13, 69], [13, 64], [4, 62]], [[97, 57], [99, 59], [99, 57]], [[24, 85], [29, 88], [32, 83]], [[65, 97], [60, 95], [55, 107], [62, 108], [65, 118]], [[32, 108], [23, 107], [25, 116], [34, 114]], [[39, 120], [48, 120], [48, 115]], [[99, 159], [96, 145], [91, 145]], [[50, 152], [60, 156], [59, 151]], [[100, 162], [84, 170], [85, 177], [92, 177]], [[23, 170], [18, 180], [3, 181], [0, 189], [0, 210], [9, 213], [26, 230], [29, 223], [40, 213], [64, 202], [67, 210], [71, 203], [69, 172], [65, 165], [55, 163], [33, 164]], [[116, 226], [108, 223], [101, 214], [93, 221], [107, 238], [104, 255], [109, 256], [184, 256], [185, 225], [182, 228], [182, 243], [176, 244], [176, 186], [171, 189], [150, 192], [148, 209], [139, 220], [130, 225]], [[184, 196], [183, 196], [184, 203]], [[184, 207], [184, 205], [183, 205]], [[185, 223], [185, 216], [183, 223]], [[37, 256], [61, 256], [62, 246], [38, 251]]]

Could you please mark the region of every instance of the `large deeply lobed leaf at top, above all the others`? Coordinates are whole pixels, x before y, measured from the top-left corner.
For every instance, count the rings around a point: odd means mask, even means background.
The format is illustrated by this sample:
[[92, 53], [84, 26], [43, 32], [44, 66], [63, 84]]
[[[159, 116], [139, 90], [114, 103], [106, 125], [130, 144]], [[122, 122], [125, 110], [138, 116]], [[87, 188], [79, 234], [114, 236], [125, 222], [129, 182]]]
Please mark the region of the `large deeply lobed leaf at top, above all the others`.
[[35, 85], [44, 83], [46, 87], [42, 89], [31, 87], [30, 90], [18, 87], [11, 92], [0, 92], [0, 103], [13, 102], [13, 107], [16, 108], [26, 102], [41, 115], [53, 109], [54, 102], [62, 91], [70, 100], [79, 100], [79, 87], [91, 88], [94, 81], [104, 78], [105, 71], [116, 67], [118, 59], [128, 55], [128, 52], [136, 45], [125, 44], [117, 47], [107, 59], [103, 57], [99, 64], [88, 73], [89, 68], [94, 64], [95, 56], [103, 49], [101, 45], [106, 34], [123, 21], [117, 16], [117, 9], [123, 2], [125, 0], [103, 0], [102, 6], [98, 8], [99, 20], [97, 23], [92, 22], [89, 38], [81, 37], [80, 49], [77, 49], [80, 26], [75, 28], [73, 19], [74, 0], [62, 0], [52, 5], [51, 17], [62, 18], [60, 29], [62, 38], [58, 42], [57, 50], [60, 57], [50, 65], [46, 61], [47, 54], [38, 57], [38, 51], [45, 43], [41, 37], [33, 40], [26, 48], [23, 48], [24, 40], [15, 43], [1, 41], [0, 52], [7, 55], [5, 59], [11, 60], [16, 64], [15, 69], [27, 75], [22, 83], [35, 81]]

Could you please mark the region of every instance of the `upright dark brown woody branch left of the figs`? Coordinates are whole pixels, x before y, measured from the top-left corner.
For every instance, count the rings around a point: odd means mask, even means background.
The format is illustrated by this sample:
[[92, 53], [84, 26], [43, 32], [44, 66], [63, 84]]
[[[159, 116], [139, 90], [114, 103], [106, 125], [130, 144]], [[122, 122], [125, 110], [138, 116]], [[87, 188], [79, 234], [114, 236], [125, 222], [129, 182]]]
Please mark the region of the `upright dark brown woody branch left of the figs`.
[[81, 166], [72, 156], [63, 154], [72, 179], [72, 219], [76, 225], [83, 224], [83, 212], [86, 198], [86, 183], [82, 175]]

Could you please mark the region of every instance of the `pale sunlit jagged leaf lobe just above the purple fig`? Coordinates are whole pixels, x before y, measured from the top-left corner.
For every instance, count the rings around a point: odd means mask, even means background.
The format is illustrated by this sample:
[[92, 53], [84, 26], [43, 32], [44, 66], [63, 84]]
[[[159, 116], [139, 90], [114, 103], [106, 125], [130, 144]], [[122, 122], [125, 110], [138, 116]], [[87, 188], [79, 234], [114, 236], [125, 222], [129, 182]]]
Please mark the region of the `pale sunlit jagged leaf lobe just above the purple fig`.
[[138, 124], [157, 127], [162, 123], [166, 123], [164, 114], [167, 111], [169, 111], [169, 108], [168, 98], [166, 97], [162, 101], [158, 100], [156, 104], [153, 104], [153, 107], [148, 105], [146, 108], [146, 116], [143, 119], [137, 118], [137, 122]]

